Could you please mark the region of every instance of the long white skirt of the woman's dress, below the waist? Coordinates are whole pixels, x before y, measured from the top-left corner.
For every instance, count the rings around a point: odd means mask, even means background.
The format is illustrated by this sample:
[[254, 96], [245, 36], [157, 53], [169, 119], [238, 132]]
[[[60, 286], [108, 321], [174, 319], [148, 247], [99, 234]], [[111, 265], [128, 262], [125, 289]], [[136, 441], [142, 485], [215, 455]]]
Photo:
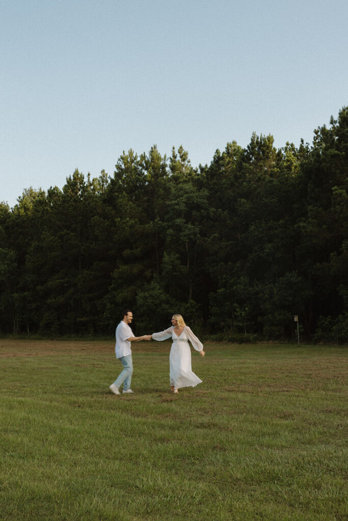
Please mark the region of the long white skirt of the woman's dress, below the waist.
[[171, 386], [195, 387], [202, 380], [191, 369], [191, 350], [186, 340], [174, 340], [169, 355]]

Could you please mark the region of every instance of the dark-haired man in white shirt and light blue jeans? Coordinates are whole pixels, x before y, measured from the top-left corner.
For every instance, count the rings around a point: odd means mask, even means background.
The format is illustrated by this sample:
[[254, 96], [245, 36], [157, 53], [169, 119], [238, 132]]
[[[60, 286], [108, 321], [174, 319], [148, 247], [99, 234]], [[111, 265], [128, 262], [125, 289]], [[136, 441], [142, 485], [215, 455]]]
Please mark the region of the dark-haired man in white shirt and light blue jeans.
[[133, 393], [130, 389], [130, 380], [133, 373], [133, 362], [131, 359], [130, 342], [139, 342], [140, 340], [151, 340], [150, 334], [145, 334], [142, 337], [135, 337], [129, 324], [133, 320], [133, 313], [130, 309], [125, 309], [122, 314], [123, 319], [119, 322], [116, 328], [116, 358], [119, 359], [123, 365], [123, 371], [118, 375], [114, 383], [111, 384], [110, 390], [115, 394], [121, 394], [119, 388], [123, 384], [124, 393]]

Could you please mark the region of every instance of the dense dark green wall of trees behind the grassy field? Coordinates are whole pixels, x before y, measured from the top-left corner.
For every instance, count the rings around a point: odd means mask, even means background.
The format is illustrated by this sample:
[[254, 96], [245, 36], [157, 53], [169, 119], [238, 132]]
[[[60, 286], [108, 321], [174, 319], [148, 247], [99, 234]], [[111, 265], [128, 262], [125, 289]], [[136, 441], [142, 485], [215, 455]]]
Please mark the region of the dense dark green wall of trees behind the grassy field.
[[[190, 165], [129, 150], [113, 177], [0, 205], [0, 330], [109, 334], [122, 308], [150, 332], [181, 313], [232, 338], [348, 338], [348, 107], [313, 144], [253, 134]], [[143, 331], [145, 332], [145, 331]], [[218, 337], [216, 337], [218, 338]]]

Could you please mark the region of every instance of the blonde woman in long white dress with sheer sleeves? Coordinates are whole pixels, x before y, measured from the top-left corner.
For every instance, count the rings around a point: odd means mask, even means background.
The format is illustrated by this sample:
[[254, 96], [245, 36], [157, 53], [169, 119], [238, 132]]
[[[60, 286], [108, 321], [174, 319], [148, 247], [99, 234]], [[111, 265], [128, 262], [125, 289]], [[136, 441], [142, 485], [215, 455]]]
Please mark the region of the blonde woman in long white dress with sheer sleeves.
[[157, 341], [171, 338], [173, 340], [171, 353], [169, 355], [171, 391], [177, 393], [181, 387], [195, 387], [202, 380], [192, 372], [191, 369], [191, 350], [188, 340], [199, 351], [201, 356], [205, 355], [203, 344], [195, 337], [194, 333], [186, 326], [181, 315], [172, 316], [173, 326], [153, 333], [152, 338]]

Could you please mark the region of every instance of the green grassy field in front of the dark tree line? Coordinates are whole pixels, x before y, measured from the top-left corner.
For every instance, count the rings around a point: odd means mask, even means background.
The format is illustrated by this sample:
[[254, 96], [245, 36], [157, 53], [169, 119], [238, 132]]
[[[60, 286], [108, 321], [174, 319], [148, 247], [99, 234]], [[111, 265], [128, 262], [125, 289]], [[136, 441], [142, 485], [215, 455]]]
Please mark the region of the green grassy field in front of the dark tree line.
[[169, 391], [170, 342], [0, 340], [2, 521], [343, 521], [346, 348], [206, 343]]

